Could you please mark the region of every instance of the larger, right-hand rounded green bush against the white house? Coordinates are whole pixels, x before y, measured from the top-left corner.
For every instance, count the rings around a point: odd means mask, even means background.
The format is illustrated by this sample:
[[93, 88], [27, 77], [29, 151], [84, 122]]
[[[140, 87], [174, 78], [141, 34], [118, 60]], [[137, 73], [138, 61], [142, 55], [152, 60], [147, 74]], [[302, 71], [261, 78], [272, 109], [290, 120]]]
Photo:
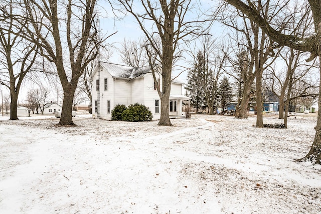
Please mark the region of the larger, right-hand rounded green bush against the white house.
[[151, 121], [152, 114], [148, 107], [142, 104], [131, 104], [122, 112], [122, 120], [129, 122]]

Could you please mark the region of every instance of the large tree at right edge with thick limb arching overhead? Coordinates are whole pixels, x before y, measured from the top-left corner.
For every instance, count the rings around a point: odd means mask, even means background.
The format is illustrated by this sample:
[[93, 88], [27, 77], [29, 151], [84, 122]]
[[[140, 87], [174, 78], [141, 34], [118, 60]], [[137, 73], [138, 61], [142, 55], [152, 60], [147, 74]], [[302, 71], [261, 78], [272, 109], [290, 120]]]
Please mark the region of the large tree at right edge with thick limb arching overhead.
[[[255, 23], [274, 41], [278, 42], [281, 46], [288, 46], [295, 50], [302, 52], [309, 52], [311, 55], [307, 61], [312, 61], [314, 58], [321, 57], [321, 5], [318, 0], [308, 0], [303, 2], [302, 7], [309, 7], [311, 9], [311, 15], [314, 24], [314, 32], [310, 34], [306, 32], [304, 37], [297, 37], [290, 34], [285, 34], [278, 31], [275, 27], [280, 27], [281, 24], [268, 21], [266, 17], [262, 16], [259, 11], [253, 8], [250, 1], [244, 3], [241, 0], [225, 0], [227, 3], [233, 5], [242, 13], [246, 14], [248, 18]], [[304, 5], [306, 4], [306, 5]], [[281, 7], [281, 6], [280, 6]], [[321, 74], [321, 64], [319, 65]], [[299, 160], [310, 160], [315, 163], [321, 164], [321, 82], [319, 82], [319, 93], [318, 93], [318, 115], [317, 123], [315, 126], [315, 136], [310, 151], [305, 157]]]

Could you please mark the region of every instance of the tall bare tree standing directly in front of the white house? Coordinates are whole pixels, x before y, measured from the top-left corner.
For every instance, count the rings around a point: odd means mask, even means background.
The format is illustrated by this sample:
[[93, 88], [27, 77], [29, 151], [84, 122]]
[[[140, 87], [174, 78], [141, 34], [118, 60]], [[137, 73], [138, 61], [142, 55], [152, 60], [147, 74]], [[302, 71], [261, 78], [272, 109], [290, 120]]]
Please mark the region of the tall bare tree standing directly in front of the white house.
[[[181, 42], [188, 40], [188, 36], [200, 33], [200, 20], [193, 21], [189, 15], [192, 15], [193, 4], [191, 0], [158, 0], [158, 1], [117, 1], [128, 13], [137, 21], [143, 31], [148, 46], [156, 53], [156, 59], [161, 66], [162, 89], [156, 87], [159, 98], [161, 99], [161, 118], [158, 125], [171, 126], [169, 117], [169, 103], [172, 82], [172, 67], [179, 56], [178, 48]], [[134, 5], [136, 4], [136, 5]], [[137, 7], [142, 8], [141, 13]], [[155, 26], [156, 30], [150, 29], [150, 25]], [[158, 46], [158, 39], [161, 41], [161, 47]], [[146, 52], [148, 49], [146, 48]], [[149, 65], [153, 72], [154, 82], [157, 82], [155, 72], [156, 67], [153, 65], [154, 55], [147, 53]]]

